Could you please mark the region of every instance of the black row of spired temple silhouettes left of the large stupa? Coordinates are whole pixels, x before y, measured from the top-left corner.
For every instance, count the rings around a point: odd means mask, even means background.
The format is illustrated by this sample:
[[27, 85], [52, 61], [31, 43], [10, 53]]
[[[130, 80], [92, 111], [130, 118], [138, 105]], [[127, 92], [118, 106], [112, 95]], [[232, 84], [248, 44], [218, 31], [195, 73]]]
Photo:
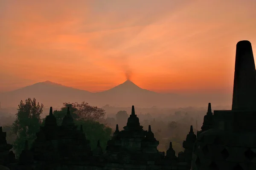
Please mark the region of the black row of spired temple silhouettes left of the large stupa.
[[82, 127], [74, 124], [69, 108], [61, 126], [58, 126], [51, 107], [44, 126], [36, 136], [30, 149], [28, 142], [25, 142], [25, 149], [17, 160], [14, 153], [9, 152], [12, 145], [6, 143], [6, 133], [2, 132], [1, 127], [1, 164], [10, 170], [189, 170], [195, 142], [191, 127], [183, 143], [185, 151], [179, 153], [180, 158], [175, 156], [172, 142], [165, 156], [164, 152], [157, 150], [159, 142], [154, 137], [151, 125], [148, 130], [143, 130], [134, 106], [123, 130], [119, 131], [116, 125], [105, 153], [100, 141], [91, 150]]

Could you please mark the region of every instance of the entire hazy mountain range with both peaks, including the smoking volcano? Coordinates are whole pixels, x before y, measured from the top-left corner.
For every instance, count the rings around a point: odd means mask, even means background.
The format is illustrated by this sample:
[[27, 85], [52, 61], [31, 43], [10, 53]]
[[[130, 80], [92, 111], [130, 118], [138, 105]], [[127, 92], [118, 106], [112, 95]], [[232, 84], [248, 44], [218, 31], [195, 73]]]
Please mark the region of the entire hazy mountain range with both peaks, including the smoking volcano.
[[149, 91], [135, 85], [130, 80], [117, 85], [107, 91], [91, 93], [67, 87], [58, 83], [46, 81], [38, 82], [15, 91], [0, 94], [2, 107], [17, 107], [20, 100], [27, 98], [37, 99], [46, 107], [62, 106], [63, 102], [88, 102], [90, 105], [102, 107], [112, 105], [146, 108], [152, 106], [177, 108], [186, 106], [202, 107], [212, 102], [213, 105], [230, 105], [232, 95], [227, 94], [161, 94]]

